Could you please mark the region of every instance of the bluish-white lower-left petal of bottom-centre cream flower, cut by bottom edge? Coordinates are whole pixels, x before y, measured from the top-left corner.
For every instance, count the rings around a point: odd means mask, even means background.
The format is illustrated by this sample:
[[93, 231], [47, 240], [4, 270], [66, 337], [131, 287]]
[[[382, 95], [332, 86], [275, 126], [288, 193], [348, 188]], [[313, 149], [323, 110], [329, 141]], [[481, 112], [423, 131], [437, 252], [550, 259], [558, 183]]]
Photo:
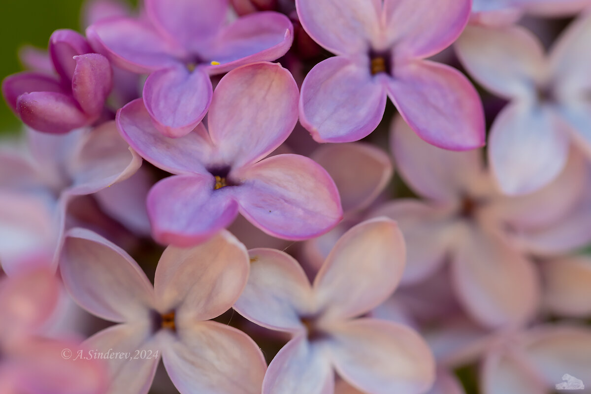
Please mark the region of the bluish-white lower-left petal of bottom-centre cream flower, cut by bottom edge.
[[262, 394], [332, 394], [334, 387], [332, 367], [320, 347], [297, 336], [269, 364]]

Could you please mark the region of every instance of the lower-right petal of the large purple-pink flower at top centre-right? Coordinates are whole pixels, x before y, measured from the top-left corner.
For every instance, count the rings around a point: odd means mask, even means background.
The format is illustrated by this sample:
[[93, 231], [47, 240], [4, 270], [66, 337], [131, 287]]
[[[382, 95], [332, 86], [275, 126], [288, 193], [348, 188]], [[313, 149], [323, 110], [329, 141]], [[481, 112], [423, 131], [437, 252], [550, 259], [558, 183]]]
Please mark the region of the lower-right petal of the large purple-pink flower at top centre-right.
[[394, 67], [388, 96], [429, 144], [466, 151], [485, 144], [484, 112], [470, 81], [456, 69], [417, 60]]

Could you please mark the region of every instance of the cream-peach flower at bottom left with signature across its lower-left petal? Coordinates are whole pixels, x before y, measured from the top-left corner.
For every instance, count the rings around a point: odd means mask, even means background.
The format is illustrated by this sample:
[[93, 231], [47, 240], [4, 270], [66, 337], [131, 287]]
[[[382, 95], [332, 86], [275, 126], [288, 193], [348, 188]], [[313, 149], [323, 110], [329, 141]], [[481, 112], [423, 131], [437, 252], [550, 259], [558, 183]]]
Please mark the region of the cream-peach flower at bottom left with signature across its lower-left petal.
[[124, 250], [89, 230], [72, 229], [60, 269], [77, 303], [118, 323], [86, 346], [147, 356], [109, 360], [108, 393], [147, 393], [161, 357], [182, 394], [260, 393], [266, 364], [258, 346], [242, 331], [209, 321], [232, 307], [248, 278], [248, 252], [230, 233], [223, 230], [191, 249], [169, 246], [152, 286]]

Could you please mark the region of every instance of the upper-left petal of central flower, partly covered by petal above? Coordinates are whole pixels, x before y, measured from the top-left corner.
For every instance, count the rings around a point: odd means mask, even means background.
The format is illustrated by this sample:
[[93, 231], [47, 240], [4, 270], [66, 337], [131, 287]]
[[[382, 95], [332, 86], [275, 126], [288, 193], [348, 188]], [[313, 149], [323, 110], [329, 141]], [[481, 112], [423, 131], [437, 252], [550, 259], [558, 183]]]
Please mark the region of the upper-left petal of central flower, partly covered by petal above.
[[173, 174], [203, 173], [212, 145], [207, 130], [200, 124], [181, 138], [168, 138], [160, 133], [150, 119], [141, 99], [124, 106], [117, 113], [121, 136], [141, 157]]

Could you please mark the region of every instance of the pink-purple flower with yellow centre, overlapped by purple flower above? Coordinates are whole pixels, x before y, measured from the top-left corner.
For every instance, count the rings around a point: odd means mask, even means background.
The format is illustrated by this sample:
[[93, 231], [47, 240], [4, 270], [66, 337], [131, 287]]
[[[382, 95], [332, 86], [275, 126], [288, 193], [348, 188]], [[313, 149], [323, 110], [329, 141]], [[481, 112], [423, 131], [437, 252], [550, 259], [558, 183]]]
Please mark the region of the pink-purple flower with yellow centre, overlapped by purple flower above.
[[282, 154], [279, 146], [297, 121], [298, 90], [278, 64], [230, 71], [217, 85], [207, 119], [182, 138], [155, 129], [141, 100], [118, 113], [124, 138], [147, 161], [173, 177], [148, 195], [154, 238], [189, 246], [243, 214], [270, 235], [307, 239], [342, 217], [338, 192], [311, 159]]

